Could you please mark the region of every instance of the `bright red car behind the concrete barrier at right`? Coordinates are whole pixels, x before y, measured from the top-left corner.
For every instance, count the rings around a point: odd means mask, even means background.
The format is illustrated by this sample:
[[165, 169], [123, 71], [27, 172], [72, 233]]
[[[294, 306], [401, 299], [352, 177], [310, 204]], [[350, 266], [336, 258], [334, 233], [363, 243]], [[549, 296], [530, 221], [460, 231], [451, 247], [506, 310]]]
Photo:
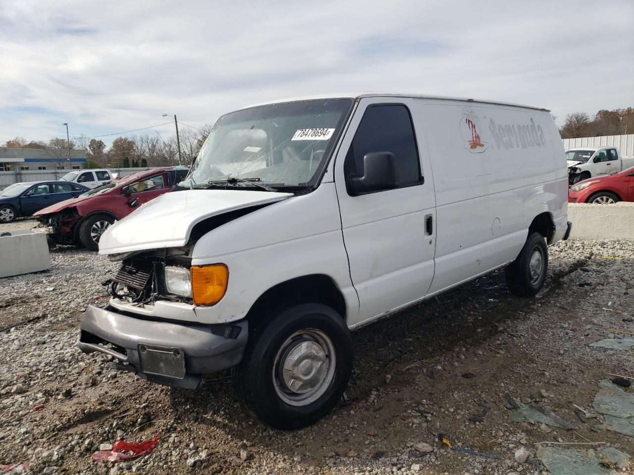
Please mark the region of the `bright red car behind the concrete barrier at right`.
[[568, 203], [609, 205], [617, 201], [634, 201], [634, 168], [580, 181], [568, 192]]

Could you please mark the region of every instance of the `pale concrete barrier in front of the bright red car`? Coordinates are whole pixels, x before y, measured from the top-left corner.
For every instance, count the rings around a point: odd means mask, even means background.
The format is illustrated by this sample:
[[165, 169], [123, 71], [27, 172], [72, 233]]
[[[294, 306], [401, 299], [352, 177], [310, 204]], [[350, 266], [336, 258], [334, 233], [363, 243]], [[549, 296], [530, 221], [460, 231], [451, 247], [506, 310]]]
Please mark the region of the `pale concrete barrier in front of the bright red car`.
[[630, 239], [634, 241], [634, 203], [614, 205], [568, 203], [573, 223], [570, 239]]

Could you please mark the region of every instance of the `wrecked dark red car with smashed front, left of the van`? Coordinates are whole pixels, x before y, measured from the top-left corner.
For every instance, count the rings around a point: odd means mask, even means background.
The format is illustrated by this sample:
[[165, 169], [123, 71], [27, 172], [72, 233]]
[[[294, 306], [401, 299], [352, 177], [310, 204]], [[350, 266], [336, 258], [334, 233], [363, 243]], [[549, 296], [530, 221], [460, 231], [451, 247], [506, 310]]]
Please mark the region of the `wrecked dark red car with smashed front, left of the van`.
[[143, 170], [44, 208], [34, 217], [46, 226], [49, 244], [83, 244], [96, 251], [101, 234], [115, 220], [167, 193], [188, 173], [189, 168], [186, 167]]

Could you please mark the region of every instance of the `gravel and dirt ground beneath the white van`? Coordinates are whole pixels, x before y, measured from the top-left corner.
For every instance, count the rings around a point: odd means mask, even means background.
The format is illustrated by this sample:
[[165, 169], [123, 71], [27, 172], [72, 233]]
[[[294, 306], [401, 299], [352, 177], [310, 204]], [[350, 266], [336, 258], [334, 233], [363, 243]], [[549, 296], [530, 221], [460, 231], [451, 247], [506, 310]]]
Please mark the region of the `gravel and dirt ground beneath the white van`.
[[[632, 242], [553, 246], [532, 300], [510, 295], [495, 272], [357, 331], [347, 401], [294, 432], [243, 409], [227, 374], [175, 390], [79, 352], [81, 312], [105, 305], [100, 282], [118, 265], [74, 248], [51, 253], [51, 263], [0, 279], [0, 327], [13, 326], [0, 333], [0, 464], [29, 462], [38, 474], [538, 474], [540, 441], [605, 441], [634, 455], [632, 438], [573, 413], [573, 403], [592, 409], [607, 373], [634, 375], [631, 352], [588, 346], [634, 333]], [[505, 393], [576, 429], [510, 422]], [[439, 434], [501, 459], [450, 451]], [[155, 436], [139, 459], [91, 462], [102, 444]], [[520, 447], [532, 454], [524, 464], [514, 458]]]

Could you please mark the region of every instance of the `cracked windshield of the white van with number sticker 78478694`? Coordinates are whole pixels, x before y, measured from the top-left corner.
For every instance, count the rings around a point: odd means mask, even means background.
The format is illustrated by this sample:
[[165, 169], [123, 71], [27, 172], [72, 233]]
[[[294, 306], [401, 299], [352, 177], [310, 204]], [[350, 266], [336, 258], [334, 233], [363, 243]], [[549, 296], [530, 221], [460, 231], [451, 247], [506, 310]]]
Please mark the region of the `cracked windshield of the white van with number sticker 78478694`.
[[303, 193], [321, 177], [352, 99], [259, 106], [219, 118], [179, 187]]

